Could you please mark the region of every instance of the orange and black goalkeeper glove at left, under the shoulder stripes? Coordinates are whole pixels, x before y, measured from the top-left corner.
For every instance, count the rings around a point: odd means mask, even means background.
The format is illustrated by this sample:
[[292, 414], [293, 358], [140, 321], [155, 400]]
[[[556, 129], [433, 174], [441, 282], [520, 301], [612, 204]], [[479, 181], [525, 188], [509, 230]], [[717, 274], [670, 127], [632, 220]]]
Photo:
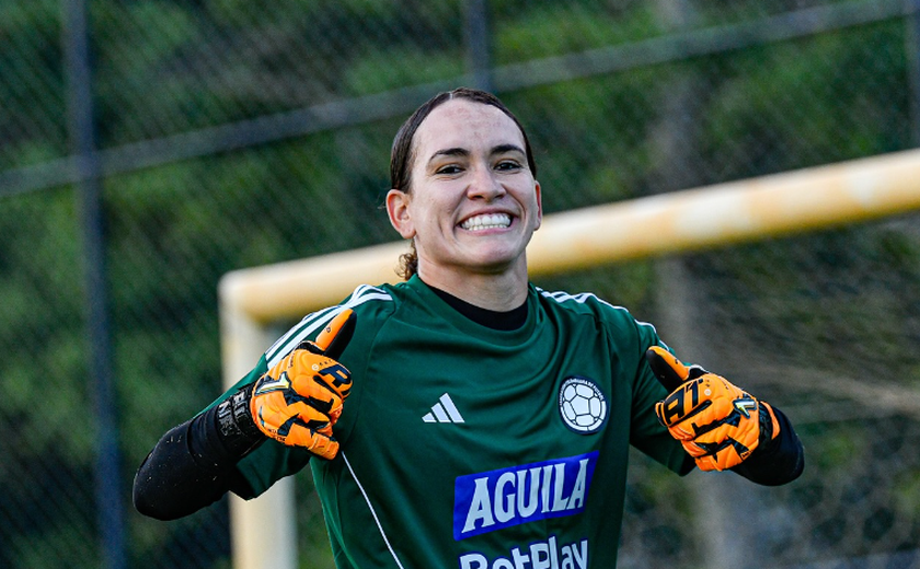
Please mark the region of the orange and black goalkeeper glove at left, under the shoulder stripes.
[[332, 426], [352, 390], [350, 372], [335, 358], [354, 330], [355, 313], [346, 309], [315, 342], [301, 342], [255, 382], [250, 410], [258, 430], [323, 458], [335, 456], [338, 441], [332, 437]]

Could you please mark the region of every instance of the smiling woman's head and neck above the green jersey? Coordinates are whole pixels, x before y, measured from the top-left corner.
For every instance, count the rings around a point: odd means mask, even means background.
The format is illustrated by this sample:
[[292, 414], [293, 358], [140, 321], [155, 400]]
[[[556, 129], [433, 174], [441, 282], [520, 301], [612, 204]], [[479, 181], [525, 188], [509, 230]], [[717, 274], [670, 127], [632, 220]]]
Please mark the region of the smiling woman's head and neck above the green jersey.
[[393, 181], [387, 211], [400, 235], [413, 240], [422, 280], [508, 311], [527, 295], [525, 251], [542, 219], [540, 184], [509, 112], [456, 93], [417, 127], [402, 154], [410, 184]]

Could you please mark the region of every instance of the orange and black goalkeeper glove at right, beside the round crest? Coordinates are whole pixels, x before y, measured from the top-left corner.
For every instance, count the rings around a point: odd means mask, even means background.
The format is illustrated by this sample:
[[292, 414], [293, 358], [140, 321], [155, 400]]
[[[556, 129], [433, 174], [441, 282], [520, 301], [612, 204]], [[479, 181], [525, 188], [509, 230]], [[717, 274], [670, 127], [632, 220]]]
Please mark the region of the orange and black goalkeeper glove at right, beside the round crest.
[[655, 414], [701, 471], [737, 466], [780, 433], [772, 407], [724, 378], [699, 365], [685, 365], [657, 346], [645, 358], [671, 392], [655, 404]]

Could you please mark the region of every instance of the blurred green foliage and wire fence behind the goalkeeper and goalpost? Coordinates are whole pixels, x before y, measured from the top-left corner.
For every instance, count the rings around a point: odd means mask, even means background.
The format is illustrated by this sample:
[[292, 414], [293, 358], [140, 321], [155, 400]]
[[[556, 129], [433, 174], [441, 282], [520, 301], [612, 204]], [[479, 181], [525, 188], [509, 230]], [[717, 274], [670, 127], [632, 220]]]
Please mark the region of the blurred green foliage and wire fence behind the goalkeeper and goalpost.
[[[221, 275], [398, 239], [389, 147], [432, 94], [496, 92], [554, 213], [920, 146], [918, 25], [916, 0], [2, 0], [0, 567], [231, 567], [226, 498], [145, 519], [135, 469], [220, 392]], [[634, 455], [621, 568], [920, 567], [918, 213], [537, 283], [630, 307], [806, 446], [781, 488]], [[301, 567], [331, 568], [296, 484]]]

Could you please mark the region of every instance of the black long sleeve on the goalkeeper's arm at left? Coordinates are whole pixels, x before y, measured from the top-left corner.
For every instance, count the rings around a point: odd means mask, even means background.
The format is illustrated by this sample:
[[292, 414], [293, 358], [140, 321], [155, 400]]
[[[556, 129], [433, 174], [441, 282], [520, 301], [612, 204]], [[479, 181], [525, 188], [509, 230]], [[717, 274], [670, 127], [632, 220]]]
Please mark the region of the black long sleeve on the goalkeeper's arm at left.
[[220, 406], [170, 429], [141, 463], [134, 481], [138, 512], [176, 520], [219, 500], [227, 491], [249, 498], [252, 490], [234, 468], [267, 440], [255, 432], [221, 430]]

